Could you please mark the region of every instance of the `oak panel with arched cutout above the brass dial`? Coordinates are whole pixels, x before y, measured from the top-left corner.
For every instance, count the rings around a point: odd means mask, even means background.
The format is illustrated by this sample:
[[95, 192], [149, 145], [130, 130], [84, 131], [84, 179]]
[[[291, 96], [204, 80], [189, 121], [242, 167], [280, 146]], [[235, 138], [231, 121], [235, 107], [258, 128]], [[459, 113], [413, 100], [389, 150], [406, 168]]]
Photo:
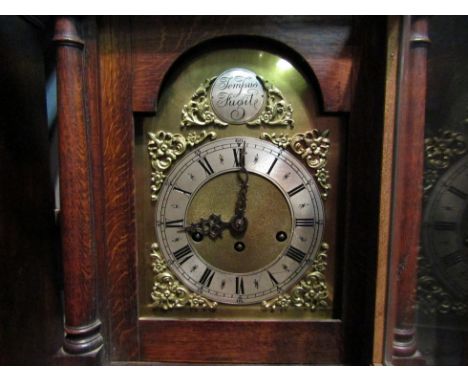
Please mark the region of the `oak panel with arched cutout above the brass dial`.
[[[318, 79], [324, 111], [349, 111], [353, 62], [350, 17], [134, 17], [132, 27], [134, 111], [156, 109], [164, 77], [183, 52], [196, 46], [232, 47], [242, 36], [256, 41], [253, 45], [259, 48], [276, 44], [280, 50], [296, 52]], [[147, 33], [149, 30], [155, 32]]]

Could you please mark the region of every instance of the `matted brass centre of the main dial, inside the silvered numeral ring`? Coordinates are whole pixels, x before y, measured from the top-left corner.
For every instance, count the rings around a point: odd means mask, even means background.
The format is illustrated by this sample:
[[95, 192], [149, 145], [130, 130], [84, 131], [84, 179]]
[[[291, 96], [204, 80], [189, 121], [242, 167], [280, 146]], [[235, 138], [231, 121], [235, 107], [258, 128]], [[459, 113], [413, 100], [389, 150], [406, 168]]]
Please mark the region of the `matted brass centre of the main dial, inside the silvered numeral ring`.
[[[219, 213], [223, 221], [233, 214], [238, 195], [237, 171], [228, 171], [204, 183], [195, 193], [185, 221], [196, 222], [210, 213]], [[212, 267], [226, 272], [245, 274], [266, 268], [272, 264], [289, 244], [292, 233], [292, 215], [289, 200], [284, 193], [261, 174], [249, 175], [249, 192], [246, 218], [248, 227], [242, 238], [226, 232], [218, 240], [190, 239], [197, 253]], [[275, 213], [270, 211], [275, 206]], [[284, 232], [287, 239], [276, 240], [278, 232]], [[245, 249], [238, 251], [236, 243], [243, 243]]]

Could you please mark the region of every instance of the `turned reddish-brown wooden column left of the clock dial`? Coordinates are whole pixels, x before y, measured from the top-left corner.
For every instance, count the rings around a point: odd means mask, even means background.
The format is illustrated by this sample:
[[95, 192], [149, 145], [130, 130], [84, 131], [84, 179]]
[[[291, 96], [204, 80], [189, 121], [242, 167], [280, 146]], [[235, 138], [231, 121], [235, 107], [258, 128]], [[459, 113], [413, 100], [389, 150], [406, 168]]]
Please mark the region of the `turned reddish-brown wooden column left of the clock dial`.
[[97, 317], [97, 259], [94, 238], [92, 163], [84, 42], [73, 17], [58, 17], [57, 93], [65, 339], [63, 351], [85, 355], [101, 349]]

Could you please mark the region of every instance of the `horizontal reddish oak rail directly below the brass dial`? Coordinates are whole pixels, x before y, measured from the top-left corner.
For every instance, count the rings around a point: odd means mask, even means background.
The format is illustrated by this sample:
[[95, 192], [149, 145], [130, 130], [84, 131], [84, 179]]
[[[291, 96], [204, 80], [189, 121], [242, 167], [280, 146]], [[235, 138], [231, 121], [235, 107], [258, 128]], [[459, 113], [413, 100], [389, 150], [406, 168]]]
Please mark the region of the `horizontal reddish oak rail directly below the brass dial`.
[[341, 323], [141, 320], [142, 361], [340, 364]]

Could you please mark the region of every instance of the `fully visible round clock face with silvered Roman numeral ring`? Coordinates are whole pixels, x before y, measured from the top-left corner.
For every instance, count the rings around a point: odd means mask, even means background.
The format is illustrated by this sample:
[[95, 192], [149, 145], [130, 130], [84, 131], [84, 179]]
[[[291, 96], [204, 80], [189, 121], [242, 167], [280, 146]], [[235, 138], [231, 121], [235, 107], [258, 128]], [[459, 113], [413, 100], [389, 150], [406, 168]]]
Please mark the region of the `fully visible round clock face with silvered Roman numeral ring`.
[[250, 137], [217, 139], [167, 175], [156, 236], [171, 271], [190, 290], [253, 304], [294, 285], [314, 260], [324, 208], [293, 154]]

